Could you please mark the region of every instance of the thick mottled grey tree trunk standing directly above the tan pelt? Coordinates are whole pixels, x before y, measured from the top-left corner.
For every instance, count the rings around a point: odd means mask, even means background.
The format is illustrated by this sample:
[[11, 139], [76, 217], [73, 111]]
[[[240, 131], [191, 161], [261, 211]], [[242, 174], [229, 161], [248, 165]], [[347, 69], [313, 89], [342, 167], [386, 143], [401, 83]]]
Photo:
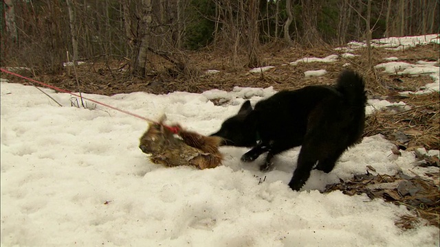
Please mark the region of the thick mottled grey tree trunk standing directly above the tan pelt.
[[142, 10], [140, 16], [140, 28], [137, 41], [140, 43], [137, 51], [137, 57], [135, 58], [134, 75], [141, 78], [146, 77], [146, 63], [148, 47], [150, 45], [151, 36], [151, 0], [142, 0]]

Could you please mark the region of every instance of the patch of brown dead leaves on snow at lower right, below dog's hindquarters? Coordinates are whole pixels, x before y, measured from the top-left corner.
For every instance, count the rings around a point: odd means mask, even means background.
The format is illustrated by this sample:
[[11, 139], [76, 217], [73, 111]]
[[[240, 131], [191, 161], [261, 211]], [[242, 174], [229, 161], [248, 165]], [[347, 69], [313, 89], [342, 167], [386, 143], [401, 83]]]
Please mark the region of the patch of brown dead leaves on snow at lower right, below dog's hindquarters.
[[[373, 167], [369, 167], [375, 171]], [[373, 175], [368, 170], [366, 174], [355, 175], [349, 181], [328, 185], [325, 192], [340, 190], [349, 196], [366, 193], [369, 198], [382, 198], [386, 202], [404, 205], [410, 211], [401, 215], [395, 224], [403, 229], [415, 228], [421, 217], [428, 224], [440, 227], [440, 193], [439, 174], [426, 174], [430, 178], [407, 176], [402, 172], [391, 176], [386, 174]]]

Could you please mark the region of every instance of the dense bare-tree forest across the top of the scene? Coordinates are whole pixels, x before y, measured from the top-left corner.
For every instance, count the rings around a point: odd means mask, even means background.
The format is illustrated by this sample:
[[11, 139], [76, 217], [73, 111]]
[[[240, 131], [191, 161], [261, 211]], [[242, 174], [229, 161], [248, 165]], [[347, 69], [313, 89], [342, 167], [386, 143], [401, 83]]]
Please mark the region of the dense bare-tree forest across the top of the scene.
[[439, 32], [437, 0], [3, 0], [0, 8], [1, 67], [36, 76], [83, 61], [114, 80], [161, 83], [198, 80], [207, 56], [236, 71], [265, 66], [267, 54], [285, 49], [307, 55], [350, 40]]

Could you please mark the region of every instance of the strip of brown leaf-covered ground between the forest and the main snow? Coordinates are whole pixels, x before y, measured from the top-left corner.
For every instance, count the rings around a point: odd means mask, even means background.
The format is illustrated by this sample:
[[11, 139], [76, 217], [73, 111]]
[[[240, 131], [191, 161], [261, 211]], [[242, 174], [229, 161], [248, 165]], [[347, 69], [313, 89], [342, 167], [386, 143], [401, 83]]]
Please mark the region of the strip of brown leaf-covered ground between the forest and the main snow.
[[[364, 74], [371, 94], [377, 94], [377, 85], [382, 84], [388, 91], [386, 95], [395, 95], [395, 91], [415, 90], [426, 84], [425, 77], [413, 78], [407, 75], [388, 75], [385, 73], [366, 73], [366, 56], [364, 49], [355, 51], [360, 56], [354, 58], [340, 58], [336, 62], [311, 62], [299, 63], [296, 66], [289, 65], [300, 58], [317, 57], [324, 58], [336, 54], [331, 47], [318, 47], [314, 49], [282, 48], [274, 45], [261, 49], [261, 63], [263, 66], [274, 66], [262, 74], [249, 73], [250, 68], [245, 67], [245, 56], [232, 58], [221, 51], [199, 51], [188, 54], [186, 64], [189, 72], [182, 75], [173, 71], [173, 65], [157, 56], [151, 55], [149, 67], [151, 73], [147, 78], [135, 78], [126, 73], [126, 61], [113, 61], [106, 64], [103, 60], [88, 61], [76, 67], [65, 67], [56, 75], [48, 75], [33, 71], [21, 71], [35, 80], [58, 86], [69, 91], [78, 91], [76, 78], [79, 80], [80, 91], [84, 93], [97, 93], [102, 95], [114, 95], [117, 93], [131, 93], [144, 91], [148, 93], [170, 93], [173, 91], [188, 91], [201, 93], [210, 89], [230, 91], [234, 86], [267, 87], [274, 86], [276, 90], [298, 89], [308, 84], [333, 84], [338, 74], [344, 67], [343, 64], [351, 62], [349, 66]], [[409, 48], [404, 51], [390, 51], [385, 49], [373, 49], [373, 64], [385, 62], [383, 59], [396, 56], [399, 60], [415, 62], [417, 60], [439, 59], [439, 45], [424, 45]], [[238, 61], [235, 62], [234, 60]], [[219, 70], [219, 73], [207, 75], [208, 69]], [[304, 72], [310, 70], [325, 69], [327, 74], [319, 78], [305, 78]], [[76, 76], [77, 75], [77, 76]], [[2, 75], [11, 82], [28, 84], [27, 81]], [[390, 90], [391, 89], [391, 90]], [[381, 91], [383, 93], [383, 91]]]

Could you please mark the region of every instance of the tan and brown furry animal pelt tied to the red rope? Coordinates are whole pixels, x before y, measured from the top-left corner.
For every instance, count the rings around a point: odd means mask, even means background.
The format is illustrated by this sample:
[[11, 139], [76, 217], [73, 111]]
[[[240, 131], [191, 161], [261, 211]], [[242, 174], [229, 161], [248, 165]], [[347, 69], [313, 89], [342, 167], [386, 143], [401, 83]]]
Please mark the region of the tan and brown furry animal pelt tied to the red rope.
[[196, 132], [176, 128], [173, 133], [168, 126], [159, 123], [150, 124], [148, 130], [140, 138], [139, 148], [151, 154], [150, 160], [156, 164], [175, 167], [192, 165], [199, 169], [214, 168], [221, 165], [223, 155], [219, 152], [220, 137], [205, 137]]

